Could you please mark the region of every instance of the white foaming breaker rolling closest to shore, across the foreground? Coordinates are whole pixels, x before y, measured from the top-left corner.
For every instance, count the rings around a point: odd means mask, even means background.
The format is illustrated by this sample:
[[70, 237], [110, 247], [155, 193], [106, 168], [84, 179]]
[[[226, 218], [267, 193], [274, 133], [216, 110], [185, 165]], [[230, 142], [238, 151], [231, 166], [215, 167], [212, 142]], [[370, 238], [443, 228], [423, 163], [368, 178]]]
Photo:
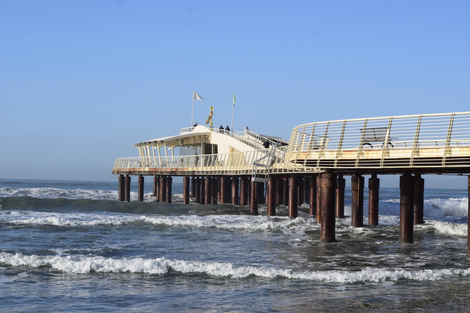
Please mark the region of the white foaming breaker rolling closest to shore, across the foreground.
[[246, 278], [258, 276], [265, 278], [289, 278], [318, 282], [384, 282], [399, 280], [436, 281], [452, 276], [468, 276], [466, 269], [434, 269], [408, 271], [397, 270], [361, 270], [295, 272], [291, 269], [277, 269], [268, 266], [237, 266], [232, 263], [186, 261], [167, 258], [103, 258], [78, 256], [37, 256], [21, 253], [0, 252], [0, 263], [11, 266], [40, 267], [50, 266], [63, 272], [77, 274], [98, 273], [149, 273], [166, 274], [169, 271], [180, 273], [202, 273], [216, 277]]

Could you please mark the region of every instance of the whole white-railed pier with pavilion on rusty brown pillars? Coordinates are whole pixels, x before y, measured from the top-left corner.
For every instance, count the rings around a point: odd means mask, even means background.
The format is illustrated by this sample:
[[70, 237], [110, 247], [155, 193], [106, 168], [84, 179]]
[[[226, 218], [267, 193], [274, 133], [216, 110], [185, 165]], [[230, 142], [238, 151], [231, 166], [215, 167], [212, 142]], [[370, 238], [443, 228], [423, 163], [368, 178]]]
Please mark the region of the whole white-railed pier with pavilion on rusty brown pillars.
[[[287, 204], [289, 217], [296, 218], [298, 205], [306, 203], [325, 243], [335, 242], [335, 219], [344, 217], [345, 176], [351, 176], [351, 225], [362, 227], [364, 176], [371, 176], [368, 225], [376, 226], [377, 175], [399, 174], [399, 242], [412, 243], [413, 226], [423, 223], [422, 175], [470, 173], [470, 112], [309, 123], [296, 126], [289, 141], [199, 125], [134, 146], [139, 157], [114, 164], [118, 200], [129, 201], [135, 175], [139, 201], [147, 176], [153, 177], [156, 201], [171, 203], [172, 176], [182, 176], [184, 204], [190, 197], [201, 204], [249, 204], [258, 214], [258, 204], [266, 203], [268, 216]], [[467, 188], [470, 193], [470, 176]]]

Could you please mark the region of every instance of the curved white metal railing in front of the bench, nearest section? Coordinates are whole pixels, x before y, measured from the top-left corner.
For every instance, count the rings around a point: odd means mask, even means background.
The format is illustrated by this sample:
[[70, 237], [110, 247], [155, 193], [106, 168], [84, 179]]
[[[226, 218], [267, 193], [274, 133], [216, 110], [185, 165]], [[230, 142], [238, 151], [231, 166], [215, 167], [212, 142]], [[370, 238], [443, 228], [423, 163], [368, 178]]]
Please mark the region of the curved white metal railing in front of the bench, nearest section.
[[286, 166], [470, 167], [470, 112], [336, 120], [292, 130]]

